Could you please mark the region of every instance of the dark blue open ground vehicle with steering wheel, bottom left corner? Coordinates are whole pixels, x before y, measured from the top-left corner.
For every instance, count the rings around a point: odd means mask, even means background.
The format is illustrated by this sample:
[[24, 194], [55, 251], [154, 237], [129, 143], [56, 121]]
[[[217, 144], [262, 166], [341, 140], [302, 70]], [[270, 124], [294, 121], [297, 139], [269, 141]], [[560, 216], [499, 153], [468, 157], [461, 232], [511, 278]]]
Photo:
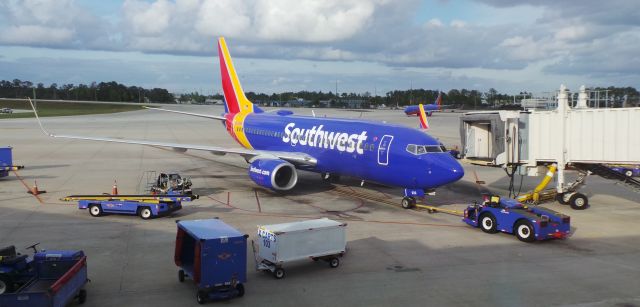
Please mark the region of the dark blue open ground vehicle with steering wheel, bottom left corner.
[[62, 307], [75, 298], [80, 304], [86, 301], [84, 286], [89, 279], [83, 251], [40, 251], [33, 259], [15, 253], [14, 246], [0, 253], [0, 287], [5, 287], [0, 306]]

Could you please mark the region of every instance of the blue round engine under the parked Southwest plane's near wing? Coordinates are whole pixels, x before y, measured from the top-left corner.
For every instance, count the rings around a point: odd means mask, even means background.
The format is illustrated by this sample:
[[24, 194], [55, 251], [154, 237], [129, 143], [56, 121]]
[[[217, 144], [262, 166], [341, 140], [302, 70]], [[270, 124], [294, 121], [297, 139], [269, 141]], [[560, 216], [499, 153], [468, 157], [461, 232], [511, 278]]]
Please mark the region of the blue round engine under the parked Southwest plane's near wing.
[[249, 166], [249, 177], [265, 188], [287, 191], [298, 182], [293, 164], [280, 159], [256, 159]]

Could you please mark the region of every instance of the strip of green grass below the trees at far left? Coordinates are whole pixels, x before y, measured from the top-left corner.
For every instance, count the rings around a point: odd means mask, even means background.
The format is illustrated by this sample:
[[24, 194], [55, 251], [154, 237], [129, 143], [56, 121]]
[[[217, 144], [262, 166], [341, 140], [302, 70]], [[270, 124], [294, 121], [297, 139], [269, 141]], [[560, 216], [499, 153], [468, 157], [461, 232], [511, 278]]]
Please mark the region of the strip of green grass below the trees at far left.
[[[0, 100], [0, 109], [14, 109], [12, 114], [0, 113], [0, 119], [3, 118], [27, 118], [34, 117], [33, 112], [16, 112], [16, 110], [29, 110], [31, 106], [29, 102], [21, 100]], [[87, 114], [105, 114], [126, 111], [141, 110], [141, 105], [121, 105], [121, 104], [101, 104], [101, 103], [74, 103], [74, 102], [54, 102], [40, 101], [37, 102], [38, 115], [45, 116], [71, 116], [71, 115], [87, 115]]]

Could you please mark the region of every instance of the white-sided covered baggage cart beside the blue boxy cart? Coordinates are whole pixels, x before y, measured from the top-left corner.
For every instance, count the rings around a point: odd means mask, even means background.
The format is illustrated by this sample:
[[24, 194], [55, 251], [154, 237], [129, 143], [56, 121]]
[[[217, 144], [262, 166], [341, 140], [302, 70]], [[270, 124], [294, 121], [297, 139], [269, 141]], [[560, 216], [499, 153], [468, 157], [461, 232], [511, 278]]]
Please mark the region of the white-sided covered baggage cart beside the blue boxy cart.
[[259, 226], [257, 253], [252, 242], [256, 270], [281, 279], [285, 263], [302, 259], [324, 260], [336, 268], [346, 252], [346, 226], [328, 218]]

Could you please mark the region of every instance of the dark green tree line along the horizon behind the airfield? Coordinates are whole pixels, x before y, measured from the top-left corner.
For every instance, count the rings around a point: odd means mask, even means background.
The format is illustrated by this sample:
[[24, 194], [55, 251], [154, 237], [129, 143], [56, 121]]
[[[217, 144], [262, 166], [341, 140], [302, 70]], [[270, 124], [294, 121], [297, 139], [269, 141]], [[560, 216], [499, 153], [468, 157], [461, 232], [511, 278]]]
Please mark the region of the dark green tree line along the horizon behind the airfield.
[[[610, 101], [622, 104], [627, 100], [632, 104], [638, 103], [640, 93], [634, 87], [599, 87], [593, 90], [608, 91]], [[24, 98], [35, 96], [39, 99], [63, 99], [63, 100], [85, 100], [85, 101], [121, 101], [121, 102], [158, 102], [158, 103], [207, 103], [207, 99], [222, 100], [221, 94], [203, 95], [198, 92], [174, 95], [163, 88], [146, 89], [138, 86], [126, 86], [115, 81], [92, 82], [86, 84], [63, 84], [56, 83], [45, 86], [42, 83], [33, 84], [30, 81], [0, 81], [0, 97], [2, 98]], [[602, 92], [604, 93], [604, 92]], [[302, 99], [309, 105], [320, 106], [323, 101], [332, 101], [331, 105], [340, 105], [340, 102], [348, 100], [360, 100], [367, 105], [386, 106], [406, 106], [418, 103], [434, 103], [439, 91], [428, 89], [410, 89], [389, 91], [384, 96], [364, 93], [333, 93], [323, 91], [299, 91], [282, 93], [256, 93], [247, 92], [249, 100], [256, 103], [267, 103], [271, 101], [286, 102]], [[577, 89], [573, 91], [573, 98], [577, 99]], [[604, 94], [602, 94], [604, 95]], [[442, 93], [443, 104], [454, 107], [477, 108], [482, 105], [505, 106], [518, 103], [523, 98], [531, 98], [529, 92], [520, 92], [518, 95], [499, 93], [496, 89], [489, 89], [486, 92], [468, 89], [451, 89]], [[601, 97], [602, 98], [602, 97]]]

